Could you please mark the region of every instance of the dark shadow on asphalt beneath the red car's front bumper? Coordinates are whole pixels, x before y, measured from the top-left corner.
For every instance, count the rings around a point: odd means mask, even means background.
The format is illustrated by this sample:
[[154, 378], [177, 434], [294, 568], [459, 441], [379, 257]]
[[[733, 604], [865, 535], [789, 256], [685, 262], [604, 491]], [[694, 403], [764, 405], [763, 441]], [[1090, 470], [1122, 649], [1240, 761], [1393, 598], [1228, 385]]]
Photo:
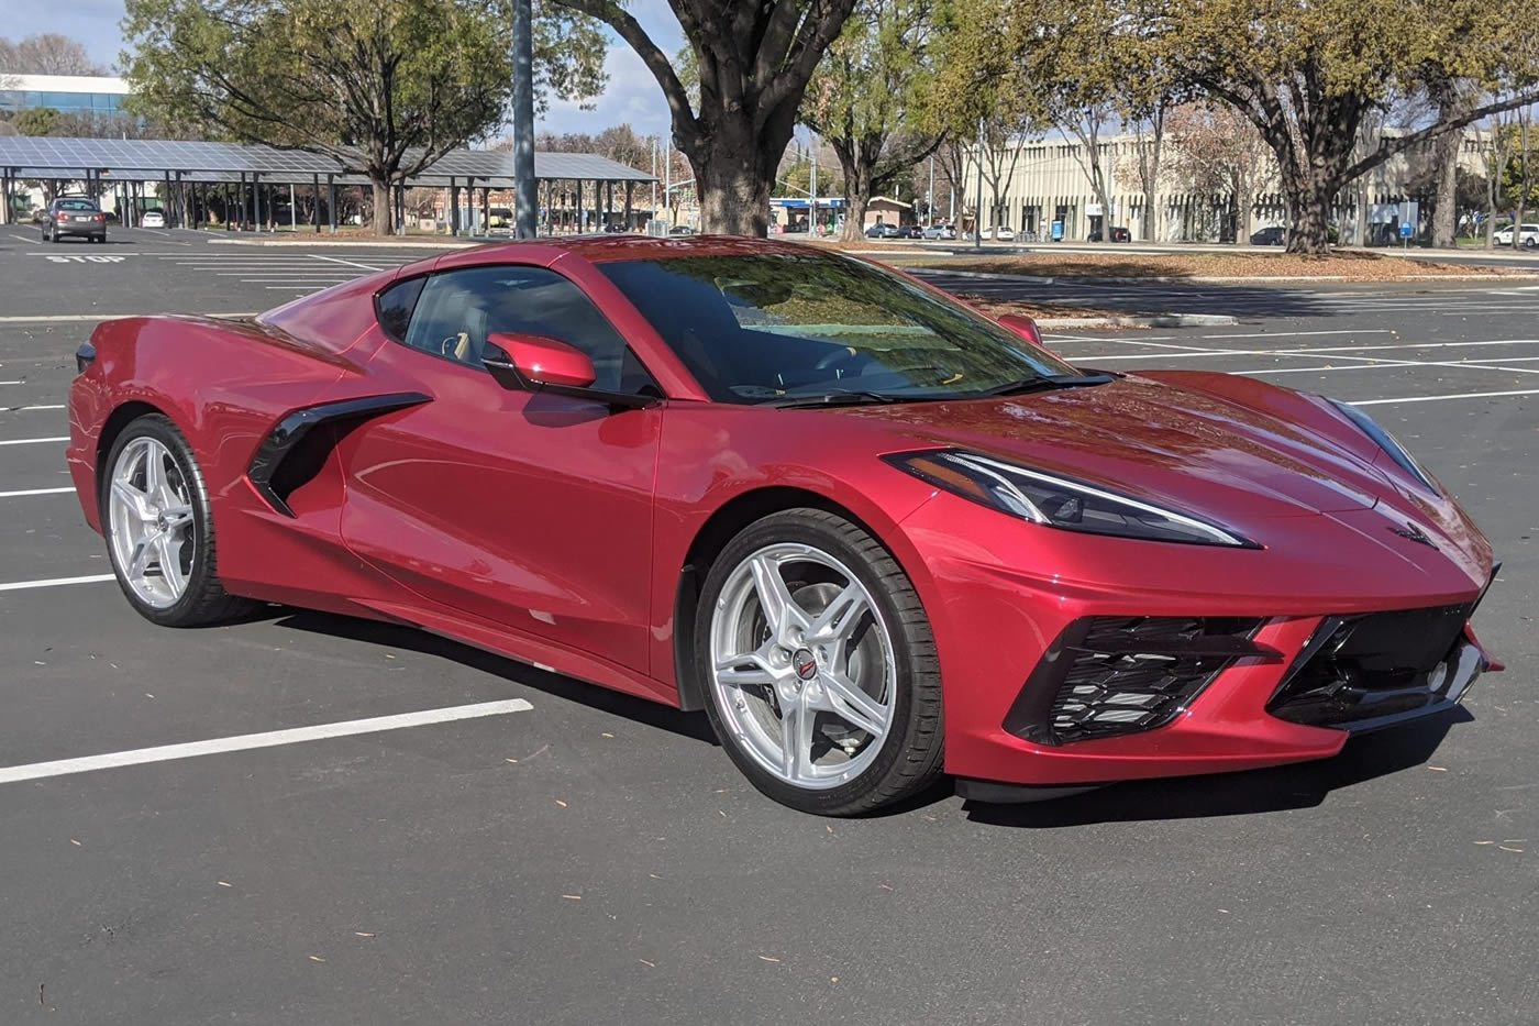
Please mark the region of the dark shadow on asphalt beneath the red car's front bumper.
[[1333, 790], [1427, 763], [1454, 724], [1474, 716], [1462, 706], [1402, 727], [1351, 738], [1339, 755], [1265, 770], [1130, 781], [1036, 804], [963, 804], [968, 820], [991, 826], [1053, 829], [1093, 823], [1196, 820], [1313, 809]]

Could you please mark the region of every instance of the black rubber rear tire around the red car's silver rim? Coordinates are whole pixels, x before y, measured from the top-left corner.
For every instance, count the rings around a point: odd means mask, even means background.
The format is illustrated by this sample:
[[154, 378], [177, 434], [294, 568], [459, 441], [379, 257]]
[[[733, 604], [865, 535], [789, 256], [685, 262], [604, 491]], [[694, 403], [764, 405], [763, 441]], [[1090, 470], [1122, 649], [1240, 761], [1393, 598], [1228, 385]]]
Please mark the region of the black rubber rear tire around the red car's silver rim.
[[[112, 468], [117, 465], [119, 454], [122, 454], [129, 442], [140, 438], [152, 438], [166, 447], [177, 464], [177, 470], [182, 473], [192, 505], [192, 565], [188, 572], [186, 590], [174, 605], [165, 609], [151, 605], [134, 592], [117, 562], [111, 539], [112, 521], [108, 511], [108, 491]], [[131, 421], [119, 433], [106, 459], [97, 467], [97, 508], [102, 515], [102, 535], [108, 542], [108, 561], [112, 564], [117, 584], [123, 590], [123, 596], [129, 605], [145, 619], [162, 627], [205, 627], [226, 621], [249, 609], [249, 599], [229, 595], [219, 581], [219, 556], [214, 539], [214, 518], [208, 502], [208, 484], [203, 481], [203, 470], [192, 454], [192, 447], [188, 445], [182, 431], [177, 430], [169, 417], [159, 413], [148, 413]]]

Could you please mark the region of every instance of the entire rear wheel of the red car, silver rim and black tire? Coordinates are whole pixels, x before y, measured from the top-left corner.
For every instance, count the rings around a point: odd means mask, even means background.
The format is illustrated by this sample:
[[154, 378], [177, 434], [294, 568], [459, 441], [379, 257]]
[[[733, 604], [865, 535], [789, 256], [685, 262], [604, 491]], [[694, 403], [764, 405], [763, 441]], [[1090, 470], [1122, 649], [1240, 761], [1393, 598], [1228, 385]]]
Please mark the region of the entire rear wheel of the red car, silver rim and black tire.
[[100, 479], [102, 533], [123, 595], [163, 627], [226, 619], [246, 602], [219, 582], [214, 518], [192, 448], [160, 414], [132, 421]]

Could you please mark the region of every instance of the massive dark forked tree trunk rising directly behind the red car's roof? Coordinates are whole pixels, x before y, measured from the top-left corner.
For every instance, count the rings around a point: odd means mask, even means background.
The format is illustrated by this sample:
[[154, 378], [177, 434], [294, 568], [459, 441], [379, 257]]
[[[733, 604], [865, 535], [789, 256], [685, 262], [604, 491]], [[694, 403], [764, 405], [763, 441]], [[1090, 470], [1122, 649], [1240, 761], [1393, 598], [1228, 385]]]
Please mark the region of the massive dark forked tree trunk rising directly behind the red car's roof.
[[[706, 231], [763, 236], [806, 83], [856, 0], [668, 0], [688, 43], [669, 59], [619, 0], [554, 0], [613, 28], [657, 79]], [[693, 63], [697, 96], [686, 85]]]

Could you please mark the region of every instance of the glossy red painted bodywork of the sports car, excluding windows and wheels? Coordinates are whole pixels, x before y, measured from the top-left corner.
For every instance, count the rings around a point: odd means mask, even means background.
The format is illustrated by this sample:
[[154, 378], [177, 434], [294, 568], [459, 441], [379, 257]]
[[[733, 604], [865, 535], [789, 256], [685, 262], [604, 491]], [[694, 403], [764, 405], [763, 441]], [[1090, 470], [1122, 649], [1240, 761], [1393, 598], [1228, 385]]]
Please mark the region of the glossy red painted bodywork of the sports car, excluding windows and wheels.
[[[106, 322], [69, 399], [68, 459], [86, 519], [100, 528], [108, 428], [160, 410], [188, 436], [209, 484], [231, 592], [417, 624], [688, 706], [697, 696], [679, 673], [680, 579], [713, 518], [739, 502], [834, 505], [886, 545], [923, 601], [945, 689], [946, 769], [1028, 784], [1333, 755], [1344, 732], [1265, 712], [1322, 618], [1468, 602], [1490, 579], [1491, 548], [1468, 516], [1317, 397], [1244, 377], [1151, 371], [968, 402], [713, 404], [596, 268], [762, 251], [805, 250], [713, 237], [508, 243], [369, 276], [255, 322]], [[482, 370], [389, 342], [376, 324], [372, 296], [392, 280], [508, 262], [576, 282], [665, 399], [620, 410], [509, 390]], [[554, 347], [509, 342], [531, 376], [536, 367], [569, 382], [583, 376], [571, 360], [553, 367], [563, 357]], [[285, 414], [405, 391], [429, 401], [339, 428], [323, 465], [289, 496], [292, 518], [246, 478]], [[937, 447], [1131, 491], [1219, 521], [1259, 548], [1040, 527], [880, 459]], [[1396, 535], [1407, 522], [1436, 547]], [[1005, 712], [1048, 642], [1094, 615], [1265, 618], [1256, 641], [1285, 659], [1234, 666], [1156, 730], [1060, 747], [1007, 732]]]

